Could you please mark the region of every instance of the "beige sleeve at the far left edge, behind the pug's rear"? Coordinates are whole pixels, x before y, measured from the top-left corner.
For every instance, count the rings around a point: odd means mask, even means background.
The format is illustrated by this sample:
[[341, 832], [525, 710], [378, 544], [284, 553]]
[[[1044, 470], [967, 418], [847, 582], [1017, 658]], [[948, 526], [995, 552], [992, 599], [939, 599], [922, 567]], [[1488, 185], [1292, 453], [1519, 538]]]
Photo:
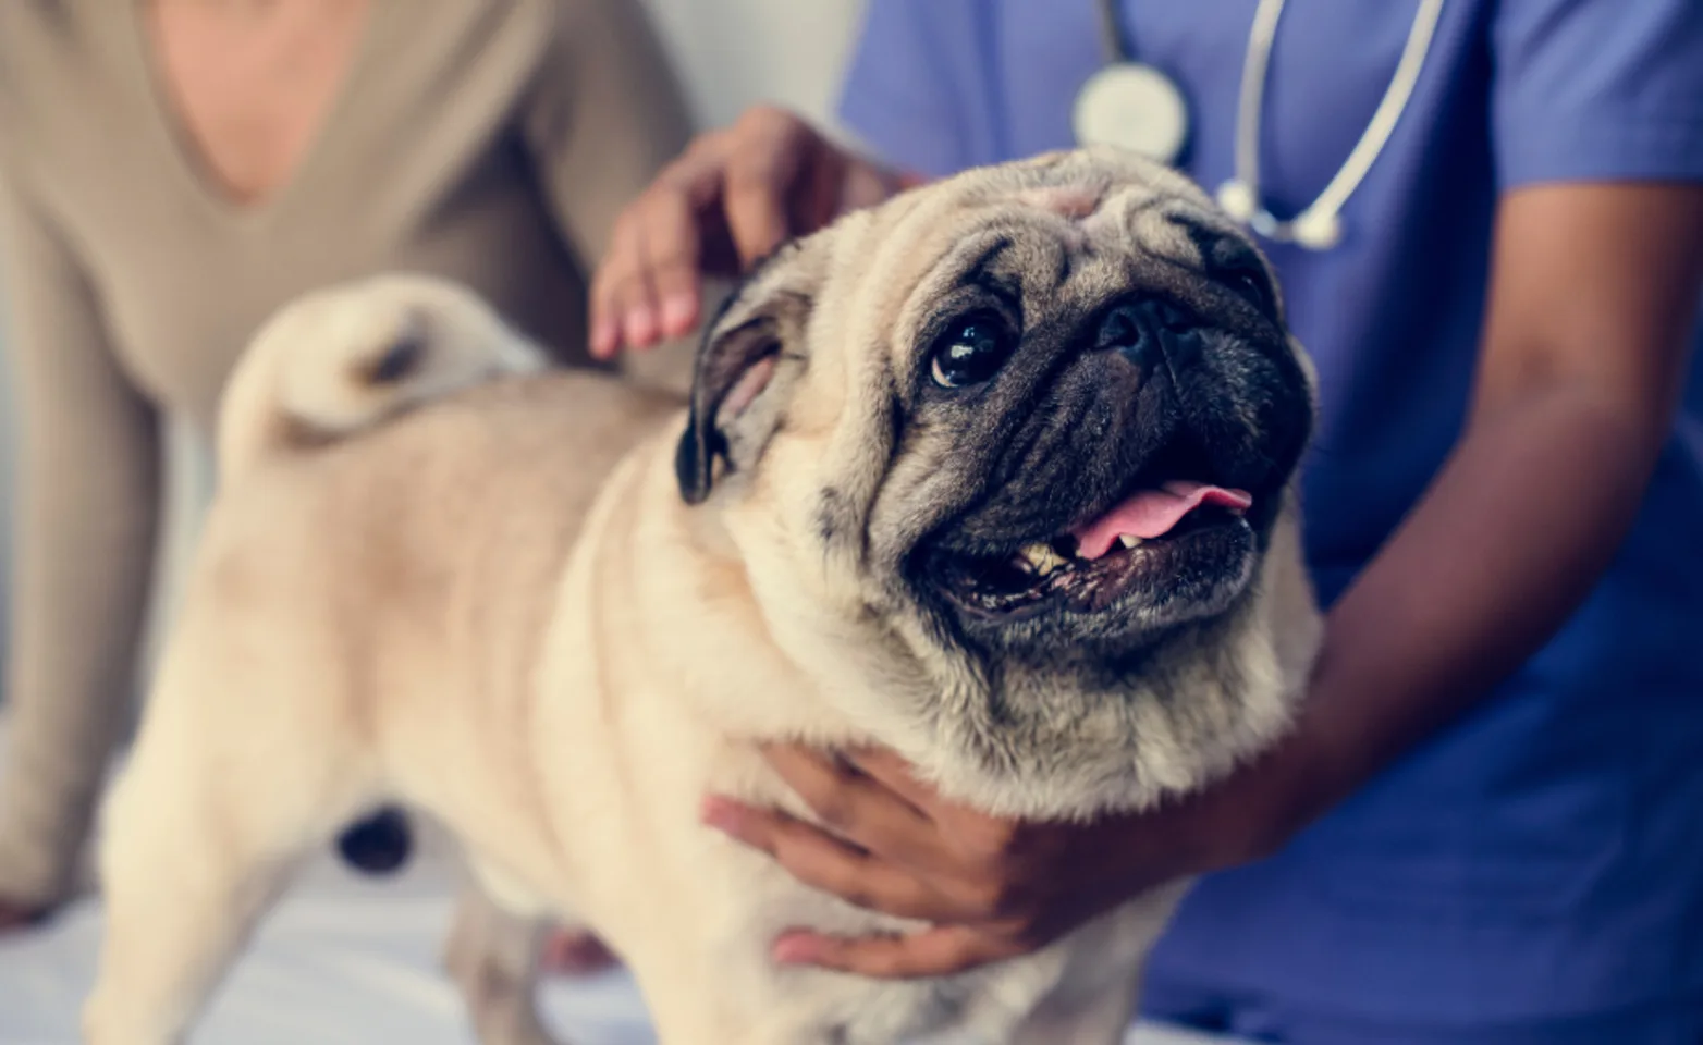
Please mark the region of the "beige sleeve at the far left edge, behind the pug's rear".
[[0, 168], [0, 288], [17, 431], [0, 895], [73, 885], [133, 694], [158, 500], [153, 410], [53, 221]]

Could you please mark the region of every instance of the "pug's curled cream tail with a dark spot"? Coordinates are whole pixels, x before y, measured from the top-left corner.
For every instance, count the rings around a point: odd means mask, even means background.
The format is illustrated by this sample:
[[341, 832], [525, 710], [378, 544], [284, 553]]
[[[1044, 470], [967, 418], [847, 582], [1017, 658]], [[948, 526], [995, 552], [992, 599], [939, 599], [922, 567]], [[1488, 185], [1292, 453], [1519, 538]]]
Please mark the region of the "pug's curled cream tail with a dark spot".
[[387, 274], [308, 293], [261, 327], [220, 405], [223, 480], [334, 443], [543, 354], [468, 288]]

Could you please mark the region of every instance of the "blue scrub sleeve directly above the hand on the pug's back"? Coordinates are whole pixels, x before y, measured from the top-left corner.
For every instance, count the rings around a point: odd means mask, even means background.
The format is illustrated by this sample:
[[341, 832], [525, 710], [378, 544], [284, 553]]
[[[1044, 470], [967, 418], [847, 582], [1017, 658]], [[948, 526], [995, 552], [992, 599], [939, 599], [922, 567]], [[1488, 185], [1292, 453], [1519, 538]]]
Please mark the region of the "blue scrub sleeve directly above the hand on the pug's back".
[[840, 119], [886, 162], [926, 175], [1006, 158], [991, 0], [869, 0]]

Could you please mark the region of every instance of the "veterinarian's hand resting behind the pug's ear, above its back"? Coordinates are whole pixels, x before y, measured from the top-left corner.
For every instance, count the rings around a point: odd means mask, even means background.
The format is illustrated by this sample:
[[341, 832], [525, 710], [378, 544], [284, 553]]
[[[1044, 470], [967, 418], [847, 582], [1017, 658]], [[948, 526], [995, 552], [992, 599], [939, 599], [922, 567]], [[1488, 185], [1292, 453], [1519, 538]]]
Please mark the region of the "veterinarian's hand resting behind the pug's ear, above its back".
[[615, 221], [591, 284], [591, 354], [688, 334], [703, 276], [737, 276], [788, 237], [904, 184], [785, 109], [758, 106], [700, 134]]

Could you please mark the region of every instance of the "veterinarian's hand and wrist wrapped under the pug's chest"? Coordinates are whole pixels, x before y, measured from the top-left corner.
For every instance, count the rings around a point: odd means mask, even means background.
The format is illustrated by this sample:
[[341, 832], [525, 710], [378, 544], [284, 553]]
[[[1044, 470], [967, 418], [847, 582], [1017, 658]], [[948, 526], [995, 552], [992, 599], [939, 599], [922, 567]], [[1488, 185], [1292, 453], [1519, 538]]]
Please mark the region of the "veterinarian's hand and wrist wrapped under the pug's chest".
[[1291, 759], [1274, 754], [1187, 802], [1092, 824], [978, 814], [887, 752], [777, 747], [770, 762], [823, 827], [725, 798], [703, 819], [858, 907], [933, 922], [909, 936], [792, 931], [775, 960], [870, 977], [947, 975], [1025, 955], [1165, 882], [1247, 863], [1298, 825]]

